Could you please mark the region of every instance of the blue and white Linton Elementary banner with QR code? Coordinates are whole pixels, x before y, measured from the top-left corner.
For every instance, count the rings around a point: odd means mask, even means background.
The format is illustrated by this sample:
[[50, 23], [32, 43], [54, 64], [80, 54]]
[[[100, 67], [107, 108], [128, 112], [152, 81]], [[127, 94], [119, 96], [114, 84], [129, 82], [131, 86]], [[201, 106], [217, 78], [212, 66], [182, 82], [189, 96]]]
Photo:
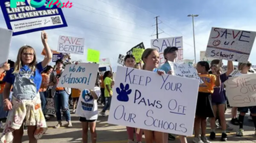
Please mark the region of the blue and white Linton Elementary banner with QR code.
[[10, 0], [1, 0], [0, 5], [7, 28], [13, 31], [13, 36], [68, 27], [61, 8], [56, 5], [52, 8], [46, 8], [46, 5], [34, 8], [25, 1], [17, 2], [17, 7], [11, 8]]

